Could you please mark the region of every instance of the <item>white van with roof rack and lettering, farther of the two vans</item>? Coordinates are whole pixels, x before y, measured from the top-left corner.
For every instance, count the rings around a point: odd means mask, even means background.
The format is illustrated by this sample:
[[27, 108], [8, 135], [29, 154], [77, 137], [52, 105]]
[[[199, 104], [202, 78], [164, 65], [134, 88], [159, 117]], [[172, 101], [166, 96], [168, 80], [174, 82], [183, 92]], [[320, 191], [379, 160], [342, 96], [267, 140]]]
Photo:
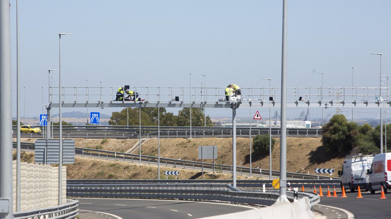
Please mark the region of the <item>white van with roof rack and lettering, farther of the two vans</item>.
[[346, 156], [342, 171], [338, 171], [341, 177], [342, 185], [345, 189], [354, 192], [358, 187], [369, 189], [369, 174], [367, 170], [371, 169], [373, 155], [352, 154]]

